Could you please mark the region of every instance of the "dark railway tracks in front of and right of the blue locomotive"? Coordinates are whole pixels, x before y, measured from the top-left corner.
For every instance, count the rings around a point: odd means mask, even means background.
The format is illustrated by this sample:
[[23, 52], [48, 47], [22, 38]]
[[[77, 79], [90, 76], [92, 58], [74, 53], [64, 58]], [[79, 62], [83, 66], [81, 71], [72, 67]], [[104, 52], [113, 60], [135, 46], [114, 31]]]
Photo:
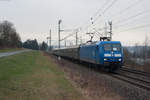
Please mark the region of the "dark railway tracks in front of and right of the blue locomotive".
[[111, 76], [150, 91], [150, 73], [122, 68], [120, 71], [111, 74]]

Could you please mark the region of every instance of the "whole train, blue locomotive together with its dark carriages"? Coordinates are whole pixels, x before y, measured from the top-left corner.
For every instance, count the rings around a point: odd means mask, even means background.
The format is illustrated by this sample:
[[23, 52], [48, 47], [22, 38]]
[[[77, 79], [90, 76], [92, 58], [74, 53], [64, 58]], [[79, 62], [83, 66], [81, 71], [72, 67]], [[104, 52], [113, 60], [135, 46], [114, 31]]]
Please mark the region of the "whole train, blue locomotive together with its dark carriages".
[[54, 49], [56, 56], [85, 62], [116, 71], [123, 66], [123, 50], [120, 41], [96, 41], [78, 46]]

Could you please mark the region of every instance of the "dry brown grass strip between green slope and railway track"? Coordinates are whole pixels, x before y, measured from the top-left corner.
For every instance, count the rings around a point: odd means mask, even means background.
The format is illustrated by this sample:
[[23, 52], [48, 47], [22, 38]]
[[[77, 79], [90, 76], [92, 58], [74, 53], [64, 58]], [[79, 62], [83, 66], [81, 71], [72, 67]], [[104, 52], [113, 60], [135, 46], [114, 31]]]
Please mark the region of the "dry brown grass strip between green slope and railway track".
[[[89, 100], [121, 100], [122, 98], [111, 91], [104, 82], [101, 82], [99, 75], [92, 70], [79, 66], [62, 59], [58, 61], [56, 57], [51, 56], [54, 63], [64, 70], [67, 79], [81, 91]], [[103, 77], [103, 74], [102, 74]]]

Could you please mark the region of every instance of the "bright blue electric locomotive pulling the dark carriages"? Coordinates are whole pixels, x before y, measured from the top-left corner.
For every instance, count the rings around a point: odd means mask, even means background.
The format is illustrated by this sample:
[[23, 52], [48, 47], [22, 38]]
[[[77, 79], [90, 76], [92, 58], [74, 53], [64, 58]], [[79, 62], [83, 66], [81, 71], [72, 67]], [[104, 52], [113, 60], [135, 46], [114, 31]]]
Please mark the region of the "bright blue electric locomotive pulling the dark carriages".
[[104, 67], [109, 71], [123, 64], [122, 46], [119, 41], [99, 41], [80, 46], [80, 60]]

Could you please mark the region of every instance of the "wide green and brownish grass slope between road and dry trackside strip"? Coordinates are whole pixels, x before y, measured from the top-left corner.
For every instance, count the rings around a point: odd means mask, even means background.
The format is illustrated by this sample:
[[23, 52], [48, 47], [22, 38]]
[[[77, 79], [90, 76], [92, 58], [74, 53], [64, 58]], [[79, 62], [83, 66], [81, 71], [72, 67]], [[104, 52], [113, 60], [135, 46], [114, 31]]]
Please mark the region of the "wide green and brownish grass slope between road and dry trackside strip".
[[83, 100], [42, 52], [0, 58], [0, 100]]

